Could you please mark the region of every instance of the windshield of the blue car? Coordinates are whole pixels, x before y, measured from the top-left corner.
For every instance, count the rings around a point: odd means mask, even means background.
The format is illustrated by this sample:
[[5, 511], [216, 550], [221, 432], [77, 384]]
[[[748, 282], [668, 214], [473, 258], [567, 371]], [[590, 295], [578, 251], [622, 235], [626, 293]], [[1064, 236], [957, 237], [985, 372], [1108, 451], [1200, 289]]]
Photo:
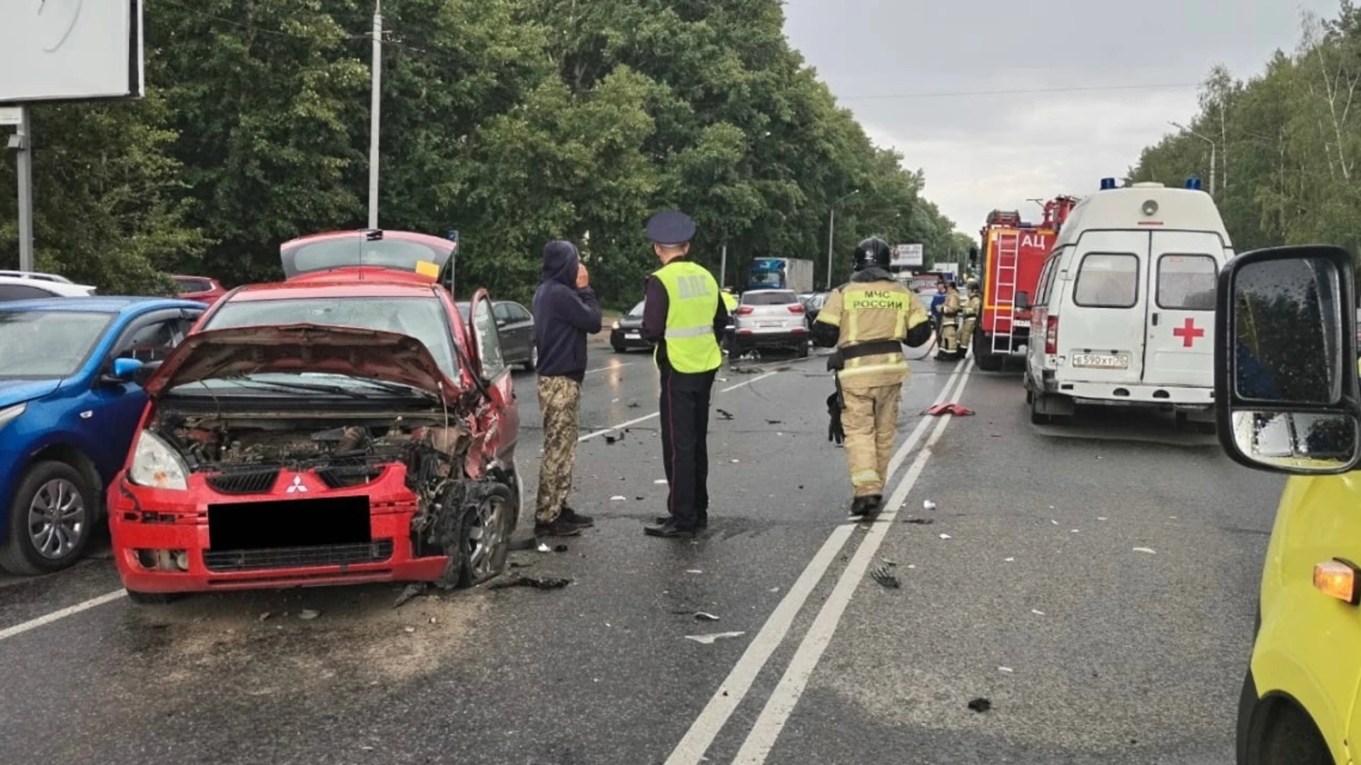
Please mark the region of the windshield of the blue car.
[[69, 377], [84, 359], [113, 316], [68, 310], [0, 312], [0, 378]]

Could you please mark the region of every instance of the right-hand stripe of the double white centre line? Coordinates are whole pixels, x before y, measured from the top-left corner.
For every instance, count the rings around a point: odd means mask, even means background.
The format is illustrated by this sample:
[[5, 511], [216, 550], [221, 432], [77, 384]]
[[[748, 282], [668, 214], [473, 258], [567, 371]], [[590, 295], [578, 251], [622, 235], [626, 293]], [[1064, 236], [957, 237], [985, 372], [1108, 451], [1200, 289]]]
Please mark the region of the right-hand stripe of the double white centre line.
[[[968, 366], [972, 368], [973, 362], [969, 361]], [[969, 372], [965, 370], [958, 392], [964, 392], [964, 387], [968, 382]], [[762, 765], [766, 757], [770, 755], [780, 731], [784, 730], [784, 724], [789, 720], [789, 715], [808, 685], [808, 678], [813, 677], [813, 671], [822, 659], [823, 651], [832, 642], [832, 636], [836, 633], [837, 625], [841, 622], [841, 617], [845, 614], [856, 588], [863, 581], [864, 572], [875, 561], [879, 544], [887, 536], [889, 530], [893, 527], [893, 520], [898, 515], [898, 509], [921, 476], [921, 471], [925, 470], [927, 460], [931, 459], [932, 446], [940, 440], [951, 419], [954, 419], [953, 415], [945, 415], [936, 423], [935, 430], [931, 432], [931, 437], [927, 438], [925, 446], [917, 453], [917, 459], [912, 461], [908, 474], [902, 476], [902, 482], [898, 483], [897, 490], [889, 498], [889, 504], [881, 515], [879, 521], [866, 534], [864, 542], [860, 543], [855, 557], [851, 558], [845, 570], [841, 572], [841, 579], [837, 580], [836, 588], [822, 604], [822, 610], [818, 611], [813, 626], [808, 628], [808, 633], [803, 636], [803, 641], [795, 651], [793, 659], [789, 660], [784, 677], [780, 678], [780, 683], [770, 694], [770, 698], [766, 700], [761, 716], [757, 717], [755, 726], [751, 727], [746, 742], [743, 742], [742, 749], [738, 750], [738, 755], [732, 760], [734, 765]]]

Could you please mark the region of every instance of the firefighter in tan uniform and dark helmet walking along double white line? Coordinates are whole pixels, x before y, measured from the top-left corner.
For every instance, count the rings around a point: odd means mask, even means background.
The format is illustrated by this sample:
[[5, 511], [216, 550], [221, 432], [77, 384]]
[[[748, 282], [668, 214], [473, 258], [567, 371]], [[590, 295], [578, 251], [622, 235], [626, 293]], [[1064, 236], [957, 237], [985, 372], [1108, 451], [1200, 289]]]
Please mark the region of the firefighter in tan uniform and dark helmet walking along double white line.
[[833, 429], [840, 417], [855, 500], [851, 513], [875, 513], [898, 426], [902, 381], [912, 373], [902, 343], [919, 347], [931, 339], [931, 317], [917, 295], [889, 272], [889, 244], [879, 238], [855, 249], [855, 275], [832, 291], [813, 325], [813, 342], [836, 347], [827, 366], [836, 370]]

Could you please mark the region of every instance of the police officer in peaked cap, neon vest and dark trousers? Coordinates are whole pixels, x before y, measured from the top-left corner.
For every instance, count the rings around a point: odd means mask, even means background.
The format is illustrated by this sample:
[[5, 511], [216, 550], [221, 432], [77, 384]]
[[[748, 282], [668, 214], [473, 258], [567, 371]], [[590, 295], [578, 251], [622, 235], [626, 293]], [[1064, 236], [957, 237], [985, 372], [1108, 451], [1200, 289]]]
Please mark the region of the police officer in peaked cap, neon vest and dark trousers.
[[649, 536], [693, 536], [709, 525], [709, 397], [723, 365], [719, 340], [728, 309], [719, 282], [693, 263], [694, 221], [663, 211], [648, 221], [648, 238], [661, 268], [648, 278], [642, 336], [656, 343], [661, 373], [661, 460], [668, 515], [644, 528]]

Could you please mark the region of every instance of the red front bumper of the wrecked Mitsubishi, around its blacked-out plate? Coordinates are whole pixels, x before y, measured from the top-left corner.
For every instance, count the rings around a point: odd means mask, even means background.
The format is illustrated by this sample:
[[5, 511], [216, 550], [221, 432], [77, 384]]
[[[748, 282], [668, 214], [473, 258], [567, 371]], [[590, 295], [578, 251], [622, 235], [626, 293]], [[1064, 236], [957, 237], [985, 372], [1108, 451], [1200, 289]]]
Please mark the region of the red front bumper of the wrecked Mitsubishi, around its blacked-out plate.
[[[287, 501], [297, 497], [284, 491], [295, 476], [308, 486], [304, 498], [367, 495], [370, 540], [240, 551], [211, 549], [208, 505]], [[275, 491], [227, 495], [215, 493], [200, 475], [191, 476], [185, 491], [132, 486], [120, 475], [108, 495], [114, 564], [124, 587], [135, 592], [434, 581], [444, 573], [448, 558], [416, 557], [411, 534], [416, 497], [404, 479], [401, 466], [389, 466], [362, 487], [328, 490], [314, 474], [283, 470]]]

